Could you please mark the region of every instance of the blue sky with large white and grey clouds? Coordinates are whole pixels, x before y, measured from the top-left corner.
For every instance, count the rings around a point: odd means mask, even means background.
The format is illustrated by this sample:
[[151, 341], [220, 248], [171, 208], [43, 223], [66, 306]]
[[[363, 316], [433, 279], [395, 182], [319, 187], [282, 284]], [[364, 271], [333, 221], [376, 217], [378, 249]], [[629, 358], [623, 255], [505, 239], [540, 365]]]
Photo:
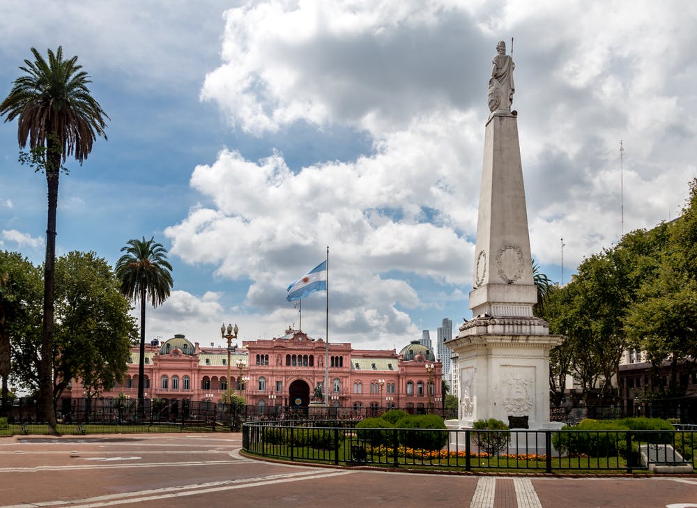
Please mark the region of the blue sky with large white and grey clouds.
[[[286, 288], [328, 247], [329, 340], [399, 351], [472, 315], [487, 86], [511, 38], [530, 247], [565, 283], [684, 206], [697, 3], [0, 1], [0, 98], [31, 47], [90, 75], [108, 139], [68, 161], [56, 249], [113, 265], [131, 238], [162, 243], [174, 287], [148, 340], [298, 328]], [[46, 182], [18, 151], [0, 123], [0, 249], [41, 263]], [[302, 301], [311, 337], [325, 307]]]

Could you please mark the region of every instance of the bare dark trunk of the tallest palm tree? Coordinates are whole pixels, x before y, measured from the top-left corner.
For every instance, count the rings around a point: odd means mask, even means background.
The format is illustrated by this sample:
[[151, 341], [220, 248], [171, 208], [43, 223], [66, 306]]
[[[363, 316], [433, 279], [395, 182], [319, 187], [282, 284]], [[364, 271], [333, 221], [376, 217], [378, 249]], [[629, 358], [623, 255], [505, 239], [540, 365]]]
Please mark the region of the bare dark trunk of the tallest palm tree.
[[[49, 143], [50, 145], [50, 143]], [[46, 260], [44, 263], [43, 340], [39, 363], [39, 398], [37, 419], [48, 422], [52, 431], [56, 429], [56, 412], [53, 397], [53, 316], [54, 290], [56, 286], [56, 210], [58, 209], [58, 161], [52, 159], [51, 148], [47, 156], [46, 180], [48, 185], [48, 220], [46, 226]]]

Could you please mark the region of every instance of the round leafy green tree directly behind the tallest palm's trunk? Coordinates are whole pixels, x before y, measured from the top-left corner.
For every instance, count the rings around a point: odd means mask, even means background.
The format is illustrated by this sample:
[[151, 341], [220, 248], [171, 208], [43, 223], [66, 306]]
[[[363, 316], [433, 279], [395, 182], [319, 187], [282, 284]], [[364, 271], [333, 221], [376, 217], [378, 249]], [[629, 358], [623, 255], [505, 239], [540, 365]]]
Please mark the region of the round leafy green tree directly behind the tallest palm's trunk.
[[[26, 274], [33, 279], [27, 286], [37, 289], [22, 295], [23, 305], [40, 309], [41, 270], [28, 267]], [[82, 382], [91, 393], [112, 387], [127, 369], [137, 328], [107, 262], [93, 252], [61, 256], [56, 261], [55, 309], [52, 401], [61, 397], [72, 380]], [[13, 369], [24, 387], [33, 391], [40, 385], [40, 311], [21, 324], [17, 322], [13, 331]]]

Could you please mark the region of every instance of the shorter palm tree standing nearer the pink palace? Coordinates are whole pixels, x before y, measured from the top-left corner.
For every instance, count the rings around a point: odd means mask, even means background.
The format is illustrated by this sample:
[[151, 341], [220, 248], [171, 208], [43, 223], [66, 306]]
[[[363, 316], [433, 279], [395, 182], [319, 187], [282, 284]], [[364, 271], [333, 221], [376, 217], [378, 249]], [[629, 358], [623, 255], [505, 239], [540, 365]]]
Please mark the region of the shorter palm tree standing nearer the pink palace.
[[146, 240], [133, 238], [121, 248], [125, 252], [116, 262], [116, 277], [121, 281], [119, 291], [131, 300], [140, 300], [140, 360], [138, 364], [138, 406], [144, 408], [145, 378], [145, 302], [153, 307], [162, 305], [169, 297], [172, 286], [171, 265], [167, 261], [167, 249], [155, 242], [155, 237]]

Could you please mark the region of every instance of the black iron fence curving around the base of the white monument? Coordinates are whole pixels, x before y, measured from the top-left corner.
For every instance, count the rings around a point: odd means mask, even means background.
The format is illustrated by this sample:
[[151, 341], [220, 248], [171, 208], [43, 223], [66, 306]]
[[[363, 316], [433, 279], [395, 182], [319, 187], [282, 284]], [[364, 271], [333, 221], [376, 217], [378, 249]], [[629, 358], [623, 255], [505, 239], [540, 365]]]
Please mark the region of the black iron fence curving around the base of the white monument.
[[636, 472], [696, 465], [697, 431], [361, 429], [343, 422], [250, 422], [243, 449], [291, 461], [441, 470]]

